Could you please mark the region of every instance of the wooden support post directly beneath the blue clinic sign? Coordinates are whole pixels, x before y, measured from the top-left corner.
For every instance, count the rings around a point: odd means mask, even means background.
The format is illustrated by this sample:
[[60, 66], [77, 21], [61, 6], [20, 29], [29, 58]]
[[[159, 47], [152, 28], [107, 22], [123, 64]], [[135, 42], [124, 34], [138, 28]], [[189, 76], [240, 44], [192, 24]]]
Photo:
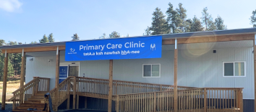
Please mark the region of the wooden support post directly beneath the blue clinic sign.
[[112, 111], [113, 95], [113, 60], [109, 60], [109, 83], [108, 83], [108, 112]]

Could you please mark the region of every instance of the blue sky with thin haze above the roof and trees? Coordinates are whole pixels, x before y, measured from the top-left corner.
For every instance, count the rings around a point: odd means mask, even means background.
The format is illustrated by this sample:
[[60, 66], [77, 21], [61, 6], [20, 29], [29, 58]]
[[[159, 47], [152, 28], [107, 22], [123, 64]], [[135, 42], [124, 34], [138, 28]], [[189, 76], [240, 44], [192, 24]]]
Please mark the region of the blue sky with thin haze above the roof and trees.
[[213, 18], [224, 19], [228, 29], [252, 27], [249, 17], [255, 0], [0, 0], [0, 39], [30, 43], [53, 33], [56, 42], [69, 41], [74, 33], [80, 39], [97, 39], [113, 31], [140, 36], [150, 26], [156, 7], [166, 13], [168, 3], [187, 9], [187, 18], [202, 17], [208, 7]]

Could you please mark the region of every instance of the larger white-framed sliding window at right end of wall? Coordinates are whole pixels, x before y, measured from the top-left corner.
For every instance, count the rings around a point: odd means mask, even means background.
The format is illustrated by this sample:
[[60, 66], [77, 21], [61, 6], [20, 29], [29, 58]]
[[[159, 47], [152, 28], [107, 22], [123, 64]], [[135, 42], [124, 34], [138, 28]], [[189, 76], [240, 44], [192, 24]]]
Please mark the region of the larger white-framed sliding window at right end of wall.
[[223, 62], [224, 77], [244, 77], [245, 62]]

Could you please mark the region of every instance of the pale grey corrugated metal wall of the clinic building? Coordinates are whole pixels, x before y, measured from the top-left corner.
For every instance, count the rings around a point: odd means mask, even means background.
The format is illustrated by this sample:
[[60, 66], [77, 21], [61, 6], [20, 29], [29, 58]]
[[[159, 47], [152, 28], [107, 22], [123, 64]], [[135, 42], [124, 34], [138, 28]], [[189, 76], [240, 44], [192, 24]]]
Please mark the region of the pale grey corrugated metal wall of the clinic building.
[[[178, 85], [192, 87], [244, 88], [244, 99], [254, 98], [252, 47], [213, 50], [179, 50]], [[27, 57], [30, 58], [30, 57]], [[27, 60], [26, 83], [33, 76], [51, 78], [55, 81], [55, 56], [34, 57]], [[52, 62], [48, 62], [52, 59]], [[246, 77], [224, 78], [223, 62], [245, 61]], [[61, 56], [64, 62], [64, 56]], [[161, 64], [161, 78], [142, 78], [142, 64]], [[174, 51], [163, 51], [159, 59], [114, 60], [114, 80], [173, 85]], [[80, 62], [80, 76], [108, 79], [108, 60]]]

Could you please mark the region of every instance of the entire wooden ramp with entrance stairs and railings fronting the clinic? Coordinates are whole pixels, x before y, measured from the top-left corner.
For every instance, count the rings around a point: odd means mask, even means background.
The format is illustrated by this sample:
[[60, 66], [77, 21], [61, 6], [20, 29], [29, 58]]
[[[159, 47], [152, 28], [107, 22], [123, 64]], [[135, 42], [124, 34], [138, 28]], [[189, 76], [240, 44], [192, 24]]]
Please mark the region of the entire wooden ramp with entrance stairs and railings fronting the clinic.
[[[13, 111], [27, 111], [27, 108], [37, 108], [38, 111], [43, 111], [43, 104], [48, 103], [48, 97], [43, 98], [46, 92], [42, 92], [48, 91], [49, 85], [45, 80], [46, 78], [35, 78], [24, 88], [14, 91], [14, 97], [10, 99], [14, 101]], [[69, 104], [72, 99], [72, 109], [78, 109], [79, 96], [108, 99], [108, 83], [109, 81], [105, 79], [69, 77], [48, 92], [52, 101], [48, 106], [51, 105], [54, 111], [58, 111], [61, 104], [67, 103], [67, 109], [70, 109]], [[178, 86], [177, 102], [174, 101], [173, 85], [113, 80], [112, 88], [112, 111], [116, 112], [172, 112], [174, 104], [178, 106], [178, 112], [243, 111], [243, 88]], [[73, 97], [70, 98], [70, 96]], [[48, 107], [46, 111], [49, 111]]]

